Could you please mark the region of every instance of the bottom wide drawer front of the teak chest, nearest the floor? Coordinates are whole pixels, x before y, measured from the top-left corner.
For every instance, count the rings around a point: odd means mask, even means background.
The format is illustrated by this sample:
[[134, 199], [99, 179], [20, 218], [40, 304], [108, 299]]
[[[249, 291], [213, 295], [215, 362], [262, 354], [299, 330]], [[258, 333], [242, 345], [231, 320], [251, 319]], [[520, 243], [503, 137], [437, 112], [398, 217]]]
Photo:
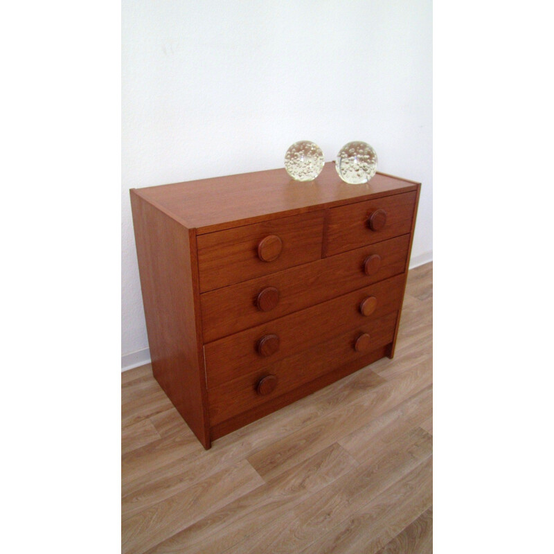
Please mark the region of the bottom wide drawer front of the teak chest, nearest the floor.
[[[277, 361], [208, 391], [211, 425], [294, 390], [334, 368], [393, 341], [397, 312], [369, 321], [308, 350]], [[369, 335], [364, 349], [359, 337]]]

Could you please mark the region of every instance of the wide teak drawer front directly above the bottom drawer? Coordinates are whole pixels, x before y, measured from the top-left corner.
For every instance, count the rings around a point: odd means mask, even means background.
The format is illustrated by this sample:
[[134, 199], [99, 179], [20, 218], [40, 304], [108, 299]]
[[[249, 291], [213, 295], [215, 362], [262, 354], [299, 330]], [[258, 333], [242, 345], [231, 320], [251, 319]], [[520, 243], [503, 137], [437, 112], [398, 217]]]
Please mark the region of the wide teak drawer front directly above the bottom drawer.
[[204, 345], [208, 388], [400, 310], [404, 274]]

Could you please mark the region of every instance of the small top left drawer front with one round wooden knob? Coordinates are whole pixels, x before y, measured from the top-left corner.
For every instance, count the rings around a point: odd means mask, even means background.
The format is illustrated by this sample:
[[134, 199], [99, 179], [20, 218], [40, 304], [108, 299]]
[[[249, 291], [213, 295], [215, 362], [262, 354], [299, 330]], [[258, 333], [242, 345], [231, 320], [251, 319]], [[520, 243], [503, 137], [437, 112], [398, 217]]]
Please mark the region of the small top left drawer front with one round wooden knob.
[[197, 237], [200, 292], [321, 258], [323, 211]]

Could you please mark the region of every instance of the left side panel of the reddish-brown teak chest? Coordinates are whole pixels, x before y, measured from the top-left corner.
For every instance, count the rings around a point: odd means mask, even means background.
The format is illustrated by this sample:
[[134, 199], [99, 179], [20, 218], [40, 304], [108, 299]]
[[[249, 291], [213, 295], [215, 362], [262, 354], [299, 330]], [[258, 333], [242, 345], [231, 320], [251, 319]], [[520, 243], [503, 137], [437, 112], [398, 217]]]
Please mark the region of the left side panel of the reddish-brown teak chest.
[[196, 235], [131, 191], [154, 377], [209, 447]]

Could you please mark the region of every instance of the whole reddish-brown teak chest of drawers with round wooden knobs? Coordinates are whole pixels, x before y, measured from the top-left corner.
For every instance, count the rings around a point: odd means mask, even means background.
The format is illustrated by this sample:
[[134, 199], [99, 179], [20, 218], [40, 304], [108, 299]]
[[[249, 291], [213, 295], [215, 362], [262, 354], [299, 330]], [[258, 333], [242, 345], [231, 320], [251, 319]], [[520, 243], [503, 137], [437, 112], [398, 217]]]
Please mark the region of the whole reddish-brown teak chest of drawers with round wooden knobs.
[[154, 377], [205, 448], [393, 357], [419, 193], [334, 163], [131, 190]]

